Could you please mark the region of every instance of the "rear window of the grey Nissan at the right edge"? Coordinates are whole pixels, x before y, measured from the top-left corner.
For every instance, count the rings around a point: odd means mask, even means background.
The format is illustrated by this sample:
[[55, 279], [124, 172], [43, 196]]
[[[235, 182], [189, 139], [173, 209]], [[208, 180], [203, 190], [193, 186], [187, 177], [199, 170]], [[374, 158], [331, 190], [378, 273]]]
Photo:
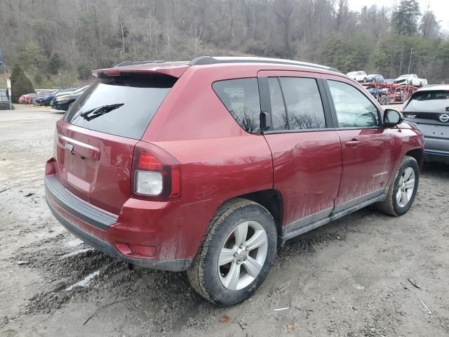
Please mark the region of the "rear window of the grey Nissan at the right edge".
[[415, 93], [404, 112], [448, 112], [449, 91], [420, 91]]

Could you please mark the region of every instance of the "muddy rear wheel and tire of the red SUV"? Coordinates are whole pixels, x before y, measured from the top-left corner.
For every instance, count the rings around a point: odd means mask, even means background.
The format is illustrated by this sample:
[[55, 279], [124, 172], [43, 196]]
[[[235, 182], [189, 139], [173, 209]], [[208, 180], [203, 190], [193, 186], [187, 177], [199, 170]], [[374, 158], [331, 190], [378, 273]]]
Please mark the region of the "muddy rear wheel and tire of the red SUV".
[[267, 209], [247, 199], [227, 201], [187, 270], [190, 284], [216, 305], [241, 303], [267, 277], [276, 245], [276, 224]]

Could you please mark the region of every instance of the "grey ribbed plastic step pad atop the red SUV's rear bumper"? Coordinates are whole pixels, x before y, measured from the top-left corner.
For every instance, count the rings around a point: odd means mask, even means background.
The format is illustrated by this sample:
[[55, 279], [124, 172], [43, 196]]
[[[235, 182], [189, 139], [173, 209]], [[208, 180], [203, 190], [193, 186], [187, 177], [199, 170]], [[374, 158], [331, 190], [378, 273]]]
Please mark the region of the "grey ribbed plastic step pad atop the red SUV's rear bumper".
[[107, 230], [107, 228], [116, 223], [119, 218], [112, 213], [102, 211], [83, 199], [76, 197], [75, 194], [69, 192], [64, 185], [60, 183], [55, 175], [46, 176], [44, 185], [46, 194], [49, 194], [57, 204], [65, 209], [65, 211], [100, 230]]

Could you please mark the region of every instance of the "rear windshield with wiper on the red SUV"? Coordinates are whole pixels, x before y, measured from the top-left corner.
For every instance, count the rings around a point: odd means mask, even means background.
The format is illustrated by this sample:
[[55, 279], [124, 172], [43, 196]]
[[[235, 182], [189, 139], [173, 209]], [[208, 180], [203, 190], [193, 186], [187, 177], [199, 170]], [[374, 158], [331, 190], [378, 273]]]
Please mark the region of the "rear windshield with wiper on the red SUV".
[[75, 101], [64, 120], [81, 128], [140, 139], [175, 81], [166, 75], [99, 79]]

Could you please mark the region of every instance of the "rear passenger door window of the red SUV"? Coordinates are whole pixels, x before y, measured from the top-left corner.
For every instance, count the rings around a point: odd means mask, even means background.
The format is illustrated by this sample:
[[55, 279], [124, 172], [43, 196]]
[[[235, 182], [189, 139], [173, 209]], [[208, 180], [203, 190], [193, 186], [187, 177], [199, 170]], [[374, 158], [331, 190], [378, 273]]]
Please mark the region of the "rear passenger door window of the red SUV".
[[323, 105], [315, 79], [280, 77], [279, 83], [269, 79], [272, 116], [275, 130], [326, 128]]

